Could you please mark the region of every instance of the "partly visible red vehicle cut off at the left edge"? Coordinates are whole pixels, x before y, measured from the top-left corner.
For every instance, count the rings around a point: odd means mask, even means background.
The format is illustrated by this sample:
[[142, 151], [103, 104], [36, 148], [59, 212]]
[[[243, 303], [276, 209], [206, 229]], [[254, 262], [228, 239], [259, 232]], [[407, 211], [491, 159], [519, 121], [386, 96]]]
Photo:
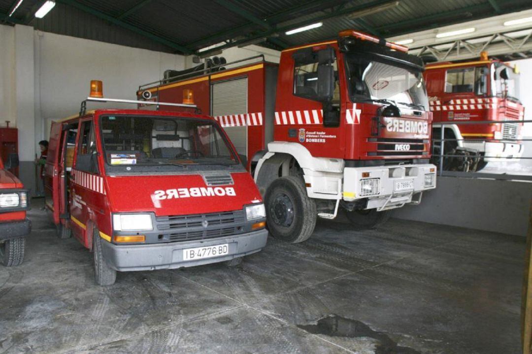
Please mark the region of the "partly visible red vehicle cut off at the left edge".
[[18, 167], [16, 153], [9, 153], [6, 165], [0, 158], [0, 264], [14, 266], [24, 259], [26, 235], [31, 222], [26, 217], [29, 209], [28, 190], [8, 169]]

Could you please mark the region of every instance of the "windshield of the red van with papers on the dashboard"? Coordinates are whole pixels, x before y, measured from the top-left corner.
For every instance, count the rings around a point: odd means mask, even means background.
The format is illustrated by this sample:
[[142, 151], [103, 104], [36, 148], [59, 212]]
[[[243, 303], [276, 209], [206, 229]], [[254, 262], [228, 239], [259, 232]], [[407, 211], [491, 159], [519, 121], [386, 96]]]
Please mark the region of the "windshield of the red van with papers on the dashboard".
[[161, 116], [101, 117], [108, 165], [236, 165], [238, 159], [213, 123]]

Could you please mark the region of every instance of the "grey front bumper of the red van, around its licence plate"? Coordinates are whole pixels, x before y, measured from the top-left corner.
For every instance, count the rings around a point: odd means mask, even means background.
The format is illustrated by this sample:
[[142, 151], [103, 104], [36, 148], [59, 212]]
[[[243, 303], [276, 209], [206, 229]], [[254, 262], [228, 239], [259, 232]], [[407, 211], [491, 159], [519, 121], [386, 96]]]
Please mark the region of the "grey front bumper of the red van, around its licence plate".
[[[262, 229], [241, 235], [164, 244], [115, 245], [102, 240], [102, 252], [107, 264], [117, 271], [175, 269], [229, 261], [259, 252], [266, 246], [267, 238], [268, 231]], [[186, 248], [221, 244], [229, 245], [229, 254], [191, 261], [183, 259], [183, 250]]]

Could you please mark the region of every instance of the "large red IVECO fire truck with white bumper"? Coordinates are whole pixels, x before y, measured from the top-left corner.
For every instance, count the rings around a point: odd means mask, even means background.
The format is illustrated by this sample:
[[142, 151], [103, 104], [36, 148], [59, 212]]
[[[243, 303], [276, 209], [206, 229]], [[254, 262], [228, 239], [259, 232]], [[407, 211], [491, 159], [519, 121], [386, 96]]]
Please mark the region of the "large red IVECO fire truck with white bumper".
[[371, 227], [435, 188], [423, 63], [406, 51], [346, 30], [283, 50], [279, 64], [198, 66], [142, 85], [137, 95], [193, 96], [247, 157], [271, 234], [296, 243], [311, 236], [317, 217], [334, 219], [339, 208]]

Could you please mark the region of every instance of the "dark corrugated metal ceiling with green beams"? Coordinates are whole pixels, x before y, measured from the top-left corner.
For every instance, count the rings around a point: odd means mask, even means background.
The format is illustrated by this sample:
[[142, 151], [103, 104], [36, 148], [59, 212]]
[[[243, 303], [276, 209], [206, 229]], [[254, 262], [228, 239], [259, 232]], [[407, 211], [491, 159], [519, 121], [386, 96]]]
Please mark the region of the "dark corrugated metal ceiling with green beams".
[[[0, 23], [33, 25], [36, 29], [115, 44], [195, 53], [226, 41], [248, 41], [282, 49], [334, 38], [340, 30], [360, 29], [381, 37], [485, 18], [532, 8], [530, 0], [56, 0], [44, 19], [34, 13], [44, 0], [0, 0]], [[391, 4], [390, 4], [391, 3]], [[376, 6], [384, 10], [354, 17]], [[286, 29], [322, 21], [319, 29], [286, 36]]]

